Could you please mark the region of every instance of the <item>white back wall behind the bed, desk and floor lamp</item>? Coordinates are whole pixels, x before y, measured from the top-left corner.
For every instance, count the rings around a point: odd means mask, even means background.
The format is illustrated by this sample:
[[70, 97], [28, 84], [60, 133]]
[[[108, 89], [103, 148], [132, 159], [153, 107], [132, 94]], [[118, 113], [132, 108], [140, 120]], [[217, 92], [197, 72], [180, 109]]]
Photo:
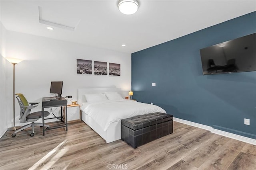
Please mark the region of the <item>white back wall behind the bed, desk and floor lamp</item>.
[[[51, 81], [63, 81], [62, 96], [71, 95], [72, 100], [78, 100], [78, 88], [116, 86], [126, 91], [131, 88], [131, 54], [128, 53], [14, 31], [7, 31], [6, 47], [6, 57], [24, 59], [15, 66], [15, 92], [23, 93], [29, 102], [40, 102], [42, 97], [52, 96], [49, 93]], [[76, 74], [76, 59], [119, 63], [121, 76]], [[7, 69], [6, 74], [9, 81], [12, 70]], [[11, 89], [12, 84], [6, 86], [6, 90]], [[12, 112], [12, 103], [7, 107]], [[18, 122], [17, 102], [15, 107]], [[41, 105], [36, 109], [41, 110]], [[8, 125], [11, 124], [12, 114], [8, 113]]]

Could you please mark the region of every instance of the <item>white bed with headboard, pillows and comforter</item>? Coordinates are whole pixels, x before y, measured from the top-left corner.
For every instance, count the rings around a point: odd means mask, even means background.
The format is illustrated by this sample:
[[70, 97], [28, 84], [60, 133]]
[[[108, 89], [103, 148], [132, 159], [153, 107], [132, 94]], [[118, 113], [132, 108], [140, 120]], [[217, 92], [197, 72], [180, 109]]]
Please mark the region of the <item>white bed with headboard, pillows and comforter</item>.
[[[111, 96], [122, 96], [122, 99]], [[86, 96], [107, 95], [111, 100], [87, 101]], [[121, 139], [121, 119], [153, 112], [166, 113], [161, 107], [125, 100], [128, 92], [120, 88], [83, 88], [78, 89], [78, 102], [81, 105], [81, 119], [100, 135], [106, 143]], [[88, 98], [89, 100], [89, 98]]]

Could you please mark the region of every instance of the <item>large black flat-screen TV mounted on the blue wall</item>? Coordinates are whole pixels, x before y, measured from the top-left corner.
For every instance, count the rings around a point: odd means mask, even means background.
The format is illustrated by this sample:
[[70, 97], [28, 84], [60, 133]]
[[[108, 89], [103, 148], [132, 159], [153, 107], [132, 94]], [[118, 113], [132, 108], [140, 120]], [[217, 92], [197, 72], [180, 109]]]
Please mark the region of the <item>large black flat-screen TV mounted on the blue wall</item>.
[[256, 33], [200, 49], [203, 74], [256, 71]]

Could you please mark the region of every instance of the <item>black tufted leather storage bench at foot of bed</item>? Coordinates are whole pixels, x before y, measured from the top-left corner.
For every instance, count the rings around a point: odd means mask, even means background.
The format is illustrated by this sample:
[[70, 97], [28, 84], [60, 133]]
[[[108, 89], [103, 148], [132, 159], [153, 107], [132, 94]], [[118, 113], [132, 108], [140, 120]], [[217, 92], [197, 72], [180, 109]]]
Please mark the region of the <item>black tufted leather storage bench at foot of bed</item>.
[[121, 139], [134, 149], [173, 132], [173, 115], [149, 113], [121, 120]]

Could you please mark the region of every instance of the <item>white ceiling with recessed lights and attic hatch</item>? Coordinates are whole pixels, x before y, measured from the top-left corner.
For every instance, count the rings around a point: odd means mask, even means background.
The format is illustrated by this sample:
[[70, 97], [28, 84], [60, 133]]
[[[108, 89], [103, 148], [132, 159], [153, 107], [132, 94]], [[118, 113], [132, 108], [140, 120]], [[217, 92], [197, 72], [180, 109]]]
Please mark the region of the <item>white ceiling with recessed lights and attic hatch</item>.
[[[0, 0], [0, 21], [10, 31], [134, 53], [256, 11], [255, 0], [138, 1], [138, 11], [124, 15], [118, 0]], [[74, 30], [50, 31], [39, 19]]]

